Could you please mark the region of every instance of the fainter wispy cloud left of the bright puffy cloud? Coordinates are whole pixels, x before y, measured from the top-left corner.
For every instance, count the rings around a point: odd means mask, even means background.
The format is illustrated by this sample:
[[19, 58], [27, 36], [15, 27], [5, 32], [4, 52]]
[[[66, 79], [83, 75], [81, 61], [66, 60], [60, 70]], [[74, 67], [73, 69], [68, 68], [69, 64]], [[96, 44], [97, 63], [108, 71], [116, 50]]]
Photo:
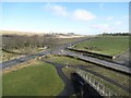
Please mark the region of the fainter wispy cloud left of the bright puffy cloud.
[[52, 12], [53, 14], [57, 15], [68, 15], [67, 9], [62, 5], [57, 5], [52, 3], [47, 3], [46, 4], [46, 10]]

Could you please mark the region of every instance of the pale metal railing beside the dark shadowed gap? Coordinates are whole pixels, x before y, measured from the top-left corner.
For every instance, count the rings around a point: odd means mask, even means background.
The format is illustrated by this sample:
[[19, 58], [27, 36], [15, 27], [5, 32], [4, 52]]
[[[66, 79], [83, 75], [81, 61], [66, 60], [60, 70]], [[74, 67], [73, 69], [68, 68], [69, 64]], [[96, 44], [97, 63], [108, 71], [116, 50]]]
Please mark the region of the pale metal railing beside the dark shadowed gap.
[[[118, 96], [118, 94], [107, 87], [107, 85], [105, 85], [104, 83], [99, 82], [95, 75], [86, 72], [86, 71], [83, 71], [83, 70], [80, 70], [80, 69], [76, 69], [76, 73], [85, 81], [87, 82], [93, 88], [95, 88], [102, 96]], [[100, 79], [100, 78], [99, 78]]]

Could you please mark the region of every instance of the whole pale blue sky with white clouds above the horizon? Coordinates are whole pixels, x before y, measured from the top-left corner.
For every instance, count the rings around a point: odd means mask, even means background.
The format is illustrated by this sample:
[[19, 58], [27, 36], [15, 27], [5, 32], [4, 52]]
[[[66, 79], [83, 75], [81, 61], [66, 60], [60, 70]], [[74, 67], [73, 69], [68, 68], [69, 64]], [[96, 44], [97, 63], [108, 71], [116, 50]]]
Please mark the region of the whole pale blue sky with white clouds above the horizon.
[[129, 3], [3, 2], [0, 29], [81, 35], [129, 32]]

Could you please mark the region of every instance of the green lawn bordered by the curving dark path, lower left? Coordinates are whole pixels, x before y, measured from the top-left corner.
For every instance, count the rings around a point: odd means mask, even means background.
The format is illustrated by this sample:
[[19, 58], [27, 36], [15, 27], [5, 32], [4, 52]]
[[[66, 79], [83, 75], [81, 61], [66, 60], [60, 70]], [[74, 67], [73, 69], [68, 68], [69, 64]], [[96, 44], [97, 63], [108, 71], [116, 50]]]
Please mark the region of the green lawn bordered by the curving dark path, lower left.
[[3, 96], [57, 96], [63, 82], [48, 63], [31, 65], [3, 74]]

